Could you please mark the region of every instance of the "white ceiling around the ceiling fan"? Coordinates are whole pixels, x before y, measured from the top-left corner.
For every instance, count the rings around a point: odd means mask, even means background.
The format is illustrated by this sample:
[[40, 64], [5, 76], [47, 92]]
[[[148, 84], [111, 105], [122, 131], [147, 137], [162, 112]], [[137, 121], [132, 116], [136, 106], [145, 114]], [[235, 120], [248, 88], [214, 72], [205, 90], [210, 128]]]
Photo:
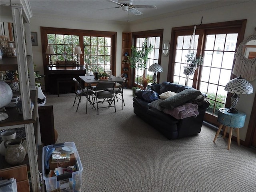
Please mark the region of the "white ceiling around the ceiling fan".
[[[115, 0], [118, 2], [118, 0]], [[133, 0], [133, 5], [154, 5], [156, 9], [136, 8], [142, 15], [129, 12], [129, 22], [158, 16], [178, 10], [208, 4], [210, 0]], [[127, 22], [128, 12], [117, 4], [102, 0], [30, 0], [32, 13], [63, 16], [64, 18], [84, 18]], [[110, 8], [110, 9], [105, 9]], [[100, 10], [104, 9], [104, 10]]]

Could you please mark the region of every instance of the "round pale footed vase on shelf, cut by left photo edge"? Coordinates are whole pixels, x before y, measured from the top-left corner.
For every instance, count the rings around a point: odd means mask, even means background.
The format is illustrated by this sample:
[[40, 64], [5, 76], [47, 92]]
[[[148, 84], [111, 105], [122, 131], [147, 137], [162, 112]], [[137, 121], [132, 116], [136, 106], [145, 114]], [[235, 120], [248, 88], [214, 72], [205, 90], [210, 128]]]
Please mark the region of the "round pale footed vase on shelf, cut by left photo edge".
[[[10, 86], [4, 82], [4, 81], [0, 81], [0, 107], [3, 108], [4, 106], [8, 105], [11, 100], [12, 100], [12, 89], [10, 88]], [[5, 120], [8, 118], [8, 114], [1, 112], [1, 121]]]

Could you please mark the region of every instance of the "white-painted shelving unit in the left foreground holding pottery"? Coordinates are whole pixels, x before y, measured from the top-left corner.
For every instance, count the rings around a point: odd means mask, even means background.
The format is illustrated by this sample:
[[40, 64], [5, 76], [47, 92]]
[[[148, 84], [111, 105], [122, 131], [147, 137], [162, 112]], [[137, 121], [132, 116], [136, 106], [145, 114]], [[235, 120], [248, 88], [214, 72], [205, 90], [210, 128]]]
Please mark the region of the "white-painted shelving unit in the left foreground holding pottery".
[[[1, 70], [18, 70], [20, 84], [20, 98], [22, 100], [23, 116], [15, 109], [8, 108], [9, 118], [1, 121], [1, 129], [24, 127], [28, 144], [28, 162], [33, 192], [40, 192], [38, 172], [38, 146], [36, 144], [34, 125], [37, 124], [37, 89], [34, 80], [34, 66], [32, 57], [32, 44], [30, 34], [30, 18], [32, 11], [29, 1], [25, 0], [1, 0], [1, 22], [13, 22], [14, 40], [17, 58], [3, 58]], [[28, 79], [30, 71], [30, 80]], [[29, 86], [30, 84], [30, 86]], [[34, 102], [34, 110], [30, 108], [30, 102]], [[38, 127], [36, 127], [37, 129]], [[24, 162], [25, 163], [25, 162]], [[4, 168], [1, 160], [1, 169]]]

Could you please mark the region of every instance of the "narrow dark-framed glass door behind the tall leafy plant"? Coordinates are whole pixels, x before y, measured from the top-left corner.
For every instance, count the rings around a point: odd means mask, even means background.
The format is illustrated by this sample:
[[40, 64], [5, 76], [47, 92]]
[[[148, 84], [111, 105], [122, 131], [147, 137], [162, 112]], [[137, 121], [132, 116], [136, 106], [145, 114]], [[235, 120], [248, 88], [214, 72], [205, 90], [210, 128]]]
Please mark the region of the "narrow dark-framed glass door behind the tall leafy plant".
[[[150, 44], [153, 46], [152, 52], [148, 55], [148, 60], [146, 62], [145, 70], [137, 70], [134, 69], [133, 73], [133, 86], [142, 88], [142, 78], [148, 79], [148, 82], [153, 82], [153, 72], [148, 70], [149, 66], [158, 63], [161, 64], [161, 50], [162, 46], [162, 35], [163, 30], [154, 30], [154, 31], [146, 31], [146, 32], [135, 32], [132, 33], [133, 36], [133, 45], [140, 50], [142, 48], [142, 44], [144, 40], [147, 38], [147, 45]], [[136, 84], [136, 79], [138, 78], [138, 84]], [[159, 81], [159, 76], [158, 76]]]

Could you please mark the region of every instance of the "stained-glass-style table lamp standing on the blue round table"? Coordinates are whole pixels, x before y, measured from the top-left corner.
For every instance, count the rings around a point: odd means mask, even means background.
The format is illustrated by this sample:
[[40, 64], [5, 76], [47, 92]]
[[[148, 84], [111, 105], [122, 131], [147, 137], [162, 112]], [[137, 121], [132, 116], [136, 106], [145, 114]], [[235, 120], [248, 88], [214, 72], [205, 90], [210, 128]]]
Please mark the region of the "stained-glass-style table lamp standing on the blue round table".
[[249, 94], [253, 93], [252, 84], [250, 84], [248, 81], [246, 81], [241, 76], [230, 80], [226, 84], [224, 90], [234, 94], [231, 97], [231, 108], [227, 110], [230, 113], [238, 113], [238, 110], [235, 108], [235, 106], [238, 103], [240, 94], [243, 94], [243, 95], [248, 94], [249, 95]]

